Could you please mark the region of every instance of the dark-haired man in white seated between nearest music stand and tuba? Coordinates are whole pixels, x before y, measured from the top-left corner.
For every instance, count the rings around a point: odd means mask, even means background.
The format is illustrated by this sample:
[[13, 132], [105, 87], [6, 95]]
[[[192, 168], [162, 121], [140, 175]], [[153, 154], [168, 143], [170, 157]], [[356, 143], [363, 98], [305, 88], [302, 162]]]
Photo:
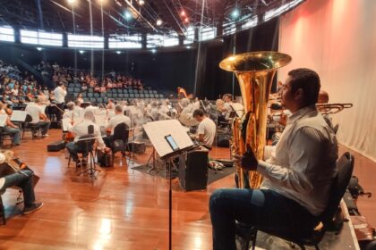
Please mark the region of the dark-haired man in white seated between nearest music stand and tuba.
[[216, 137], [216, 123], [212, 121], [206, 114], [200, 109], [193, 112], [193, 117], [196, 121], [199, 121], [199, 128], [197, 129], [197, 139], [208, 149], [211, 149], [214, 138]]

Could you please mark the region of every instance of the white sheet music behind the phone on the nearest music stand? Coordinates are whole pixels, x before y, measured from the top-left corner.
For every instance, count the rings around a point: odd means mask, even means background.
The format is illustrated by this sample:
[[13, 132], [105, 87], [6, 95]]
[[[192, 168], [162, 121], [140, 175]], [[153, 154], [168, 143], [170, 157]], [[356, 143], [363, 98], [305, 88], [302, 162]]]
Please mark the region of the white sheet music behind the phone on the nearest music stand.
[[193, 146], [191, 138], [182, 124], [177, 120], [152, 121], [144, 124], [143, 128], [160, 157], [174, 152], [165, 138], [168, 135], [174, 138], [180, 149]]

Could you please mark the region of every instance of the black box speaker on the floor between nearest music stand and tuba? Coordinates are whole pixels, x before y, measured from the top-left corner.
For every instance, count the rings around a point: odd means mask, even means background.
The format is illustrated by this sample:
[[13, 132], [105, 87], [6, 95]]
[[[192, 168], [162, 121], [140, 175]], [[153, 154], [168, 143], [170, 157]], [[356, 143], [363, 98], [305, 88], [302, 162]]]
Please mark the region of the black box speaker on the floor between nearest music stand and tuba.
[[208, 184], [209, 150], [201, 146], [179, 157], [180, 186], [186, 191], [205, 189]]

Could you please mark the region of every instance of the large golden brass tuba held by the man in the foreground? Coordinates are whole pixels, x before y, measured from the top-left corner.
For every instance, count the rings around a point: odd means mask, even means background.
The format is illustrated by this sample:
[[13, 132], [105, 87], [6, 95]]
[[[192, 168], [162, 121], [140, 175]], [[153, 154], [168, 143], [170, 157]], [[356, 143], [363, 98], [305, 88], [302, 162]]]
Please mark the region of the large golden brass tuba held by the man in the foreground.
[[[235, 54], [219, 63], [222, 70], [235, 72], [244, 103], [244, 116], [235, 118], [232, 124], [232, 156], [243, 155], [251, 148], [256, 158], [262, 159], [271, 84], [277, 69], [290, 62], [291, 56], [288, 54], [262, 51]], [[237, 187], [260, 187], [261, 174], [244, 171], [238, 161], [235, 161], [235, 168]]]

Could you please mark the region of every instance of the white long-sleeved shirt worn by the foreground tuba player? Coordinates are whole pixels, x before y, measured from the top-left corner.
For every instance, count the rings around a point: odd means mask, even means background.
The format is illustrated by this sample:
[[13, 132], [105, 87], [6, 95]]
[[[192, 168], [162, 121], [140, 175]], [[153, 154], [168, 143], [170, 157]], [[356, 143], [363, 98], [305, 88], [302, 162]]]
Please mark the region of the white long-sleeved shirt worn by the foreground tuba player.
[[338, 159], [336, 136], [320, 112], [311, 106], [292, 114], [269, 153], [267, 162], [260, 161], [257, 168], [265, 177], [261, 188], [274, 190], [320, 215], [329, 201]]

